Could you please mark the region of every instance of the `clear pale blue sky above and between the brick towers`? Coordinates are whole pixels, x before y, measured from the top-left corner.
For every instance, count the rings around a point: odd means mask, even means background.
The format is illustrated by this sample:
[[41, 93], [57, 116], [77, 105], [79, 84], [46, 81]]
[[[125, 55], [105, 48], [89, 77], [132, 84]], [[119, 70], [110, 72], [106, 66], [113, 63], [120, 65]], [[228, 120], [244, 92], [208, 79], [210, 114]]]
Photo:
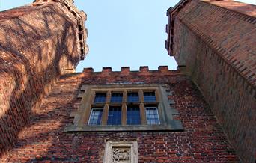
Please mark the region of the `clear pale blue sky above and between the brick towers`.
[[[0, 10], [7, 10], [31, 3], [33, 0], [0, 0]], [[75, 0], [76, 7], [88, 15], [90, 51], [80, 61], [76, 71], [83, 67], [102, 67], [121, 70], [129, 66], [149, 66], [157, 70], [159, 65], [176, 69], [174, 58], [165, 50], [166, 10], [179, 0]], [[256, 0], [240, 0], [256, 4]]]

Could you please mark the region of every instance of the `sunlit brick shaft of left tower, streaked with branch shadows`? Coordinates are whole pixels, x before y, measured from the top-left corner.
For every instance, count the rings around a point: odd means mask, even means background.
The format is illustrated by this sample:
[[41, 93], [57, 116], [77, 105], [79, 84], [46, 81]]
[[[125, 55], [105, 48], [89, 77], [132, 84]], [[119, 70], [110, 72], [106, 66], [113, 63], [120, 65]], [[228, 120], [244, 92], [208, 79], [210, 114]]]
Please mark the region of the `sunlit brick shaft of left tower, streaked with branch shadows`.
[[79, 62], [77, 22], [54, 2], [0, 13], [0, 156], [58, 77]]

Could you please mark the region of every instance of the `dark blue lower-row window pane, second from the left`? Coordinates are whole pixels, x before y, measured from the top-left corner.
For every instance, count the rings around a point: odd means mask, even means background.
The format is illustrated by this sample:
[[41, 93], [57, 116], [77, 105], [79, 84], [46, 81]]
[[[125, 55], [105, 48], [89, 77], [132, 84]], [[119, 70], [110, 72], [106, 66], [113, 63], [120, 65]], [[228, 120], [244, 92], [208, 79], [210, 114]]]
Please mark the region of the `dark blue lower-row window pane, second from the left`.
[[108, 125], [121, 125], [121, 106], [110, 106]]

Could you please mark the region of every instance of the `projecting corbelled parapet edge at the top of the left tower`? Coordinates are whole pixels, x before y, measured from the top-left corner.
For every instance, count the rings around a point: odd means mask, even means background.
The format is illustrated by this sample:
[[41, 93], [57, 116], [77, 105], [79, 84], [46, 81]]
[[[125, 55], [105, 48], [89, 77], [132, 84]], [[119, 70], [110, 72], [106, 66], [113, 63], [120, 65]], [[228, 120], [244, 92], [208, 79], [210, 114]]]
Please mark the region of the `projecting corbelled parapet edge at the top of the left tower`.
[[[86, 13], [83, 10], [79, 11], [73, 4], [73, 0], [35, 0], [33, 2], [33, 5], [47, 5], [52, 3], [60, 3], [64, 8], [66, 8], [70, 12], [70, 14], [73, 15], [73, 17], [75, 17], [78, 27], [76, 37], [79, 40], [77, 46], [79, 46], [80, 49], [80, 59], [84, 60], [89, 51], [89, 47], [86, 43], [86, 38], [88, 37], [88, 30], [87, 28], [85, 28], [84, 23], [87, 19]], [[70, 19], [73, 18], [70, 17]]]

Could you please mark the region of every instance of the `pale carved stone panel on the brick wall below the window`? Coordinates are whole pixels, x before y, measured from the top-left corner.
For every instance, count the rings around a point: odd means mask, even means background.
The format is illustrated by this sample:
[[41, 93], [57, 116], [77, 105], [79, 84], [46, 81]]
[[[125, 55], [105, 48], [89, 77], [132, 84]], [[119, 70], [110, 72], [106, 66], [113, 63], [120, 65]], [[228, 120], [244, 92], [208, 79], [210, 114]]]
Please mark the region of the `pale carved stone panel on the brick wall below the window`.
[[104, 163], [137, 163], [137, 141], [107, 141]]

